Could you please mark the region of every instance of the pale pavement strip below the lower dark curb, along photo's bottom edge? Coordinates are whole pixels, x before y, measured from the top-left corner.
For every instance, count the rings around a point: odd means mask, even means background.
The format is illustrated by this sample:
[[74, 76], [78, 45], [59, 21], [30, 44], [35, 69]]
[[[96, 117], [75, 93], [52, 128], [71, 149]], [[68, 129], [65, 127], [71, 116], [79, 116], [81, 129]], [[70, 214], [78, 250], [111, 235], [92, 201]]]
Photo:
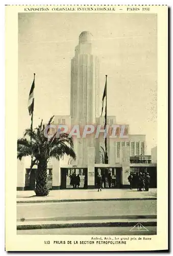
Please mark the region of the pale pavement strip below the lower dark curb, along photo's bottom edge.
[[87, 228], [55, 228], [55, 229], [31, 229], [31, 230], [17, 230], [17, 234], [90, 234], [90, 235], [104, 235], [104, 236], [149, 236], [156, 234], [157, 227], [145, 226], [149, 231], [130, 231], [133, 227], [87, 227]]

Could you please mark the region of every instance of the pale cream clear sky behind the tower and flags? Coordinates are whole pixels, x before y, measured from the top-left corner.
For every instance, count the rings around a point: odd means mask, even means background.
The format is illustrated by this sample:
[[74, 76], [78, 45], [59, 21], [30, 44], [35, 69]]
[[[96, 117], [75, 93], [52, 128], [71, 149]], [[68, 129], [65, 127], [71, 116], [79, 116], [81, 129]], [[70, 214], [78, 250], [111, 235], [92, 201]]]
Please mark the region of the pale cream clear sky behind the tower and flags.
[[70, 114], [70, 62], [82, 31], [93, 35], [100, 101], [105, 75], [107, 114], [146, 135], [146, 154], [157, 145], [157, 15], [19, 13], [18, 137], [30, 127], [28, 97], [35, 77], [34, 127]]

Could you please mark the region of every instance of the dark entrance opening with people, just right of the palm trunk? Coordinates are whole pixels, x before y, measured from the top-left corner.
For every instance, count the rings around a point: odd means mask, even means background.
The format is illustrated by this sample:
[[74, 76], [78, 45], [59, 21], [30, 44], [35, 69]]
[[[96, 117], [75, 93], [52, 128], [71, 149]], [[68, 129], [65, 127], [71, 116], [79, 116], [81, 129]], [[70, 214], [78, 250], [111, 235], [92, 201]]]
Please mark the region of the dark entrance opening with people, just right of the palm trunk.
[[88, 188], [87, 168], [61, 168], [60, 188]]

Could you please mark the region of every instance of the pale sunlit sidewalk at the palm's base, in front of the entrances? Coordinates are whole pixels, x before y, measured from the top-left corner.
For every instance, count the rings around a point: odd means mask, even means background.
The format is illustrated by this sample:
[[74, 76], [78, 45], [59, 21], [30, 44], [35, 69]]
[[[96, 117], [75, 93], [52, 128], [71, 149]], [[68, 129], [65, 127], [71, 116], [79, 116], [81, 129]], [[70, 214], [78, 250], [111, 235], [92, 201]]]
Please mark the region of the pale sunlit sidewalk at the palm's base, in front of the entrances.
[[103, 188], [100, 192], [97, 189], [51, 190], [46, 197], [36, 197], [34, 191], [17, 191], [17, 203], [151, 199], [157, 199], [157, 188], [150, 188], [149, 191]]

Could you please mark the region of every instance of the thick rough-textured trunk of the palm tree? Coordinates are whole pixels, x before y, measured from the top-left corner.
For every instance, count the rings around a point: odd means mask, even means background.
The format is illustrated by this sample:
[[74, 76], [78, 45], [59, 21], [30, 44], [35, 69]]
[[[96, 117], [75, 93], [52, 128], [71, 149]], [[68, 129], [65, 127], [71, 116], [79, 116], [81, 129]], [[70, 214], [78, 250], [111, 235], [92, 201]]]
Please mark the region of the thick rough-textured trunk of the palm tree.
[[36, 173], [36, 196], [43, 197], [47, 196], [49, 189], [47, 186], [47, 161], [41, 160], [38, 163], [38, 169]]

